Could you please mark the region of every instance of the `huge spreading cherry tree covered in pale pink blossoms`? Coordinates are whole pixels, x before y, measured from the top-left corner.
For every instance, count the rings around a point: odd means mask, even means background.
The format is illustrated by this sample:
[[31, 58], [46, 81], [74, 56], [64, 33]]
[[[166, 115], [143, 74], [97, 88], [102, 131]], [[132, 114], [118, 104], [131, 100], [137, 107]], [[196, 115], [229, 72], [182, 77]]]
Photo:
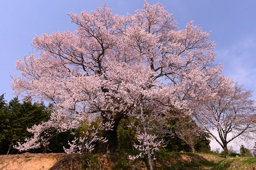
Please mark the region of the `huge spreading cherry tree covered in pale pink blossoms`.
[[145, 1], [143, 7], [120, 16], [104, 4], [91, 12], [68, 14], [77, 25], [74, 33], [36, 35], [32, 46], [38, 56], [17, 61], [22, 76], [13, 76], [12, 87], [21, 96], [52, 102], [54, 111], [49, 121], [29, 129], [34, 137], [18, 149], [48, 145], [57, 133], [101, 117], [94, 133], [76, 138], [65, 151], [80, 152], [81, 146], [92, 150], [100, 141], [99, 150], [115, 152], [118, 123], [133, 117], [142, 125], [137, 128], [138, 148], [150, 157], [161, 143], [157, 134], [166, 133], [169, 111], [188, 112], [192, 98], [212, 95], [208, 82], [221, 67], [213, 64], [210, 33], [192, 21], [178, 29], [159, 3]]

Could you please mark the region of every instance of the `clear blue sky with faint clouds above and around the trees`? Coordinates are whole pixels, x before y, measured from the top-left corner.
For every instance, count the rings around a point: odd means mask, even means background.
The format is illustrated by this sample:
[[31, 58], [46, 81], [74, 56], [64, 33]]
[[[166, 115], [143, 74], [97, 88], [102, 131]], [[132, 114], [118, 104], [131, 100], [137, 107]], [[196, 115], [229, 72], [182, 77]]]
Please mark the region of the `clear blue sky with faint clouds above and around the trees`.
[[[134, 14], [144, 0], [1, 0], [0, 5], [0, 94], [9, 101], [14, 96], [10, 74], [19, 75], [15, 61], [33, 52], [30, 43], [35, 35], [68, 29], [68, 12], [94, 10], [107, 2], [114, 13]], [[154, 4], [157, 0], [148, 0]], [[218, 53], [216, 64], [224, 65], [223, 74], [244, 88], [256, 91], [256, 1], [255, 0], [160, 0], [173, 13], [178, 26], [194, 24], [203, 31], [212, 30]], [[256, 99], [254, 92], [253, 99]]]

